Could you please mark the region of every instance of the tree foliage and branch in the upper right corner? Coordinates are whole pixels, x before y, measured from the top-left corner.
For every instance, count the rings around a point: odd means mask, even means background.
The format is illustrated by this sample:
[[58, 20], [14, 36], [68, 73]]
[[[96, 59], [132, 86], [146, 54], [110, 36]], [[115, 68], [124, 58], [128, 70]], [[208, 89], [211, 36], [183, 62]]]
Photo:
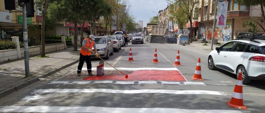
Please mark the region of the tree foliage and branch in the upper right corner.
[[265, 32], [265, 29], [263, 27], [263, 22], [265, 21], [265, 13], [264, 13], [264, 8], [265, 8], [265, 0], [235, 0], [235, 2], [238, 2], [238, 4], [240, 5], [246, 5], [246, 6], [256, 6], [256, 5], [259, 5], [260, 6], [260, 10], [261, 10], [261, 17], [262, 17], [262, 20], [261, 20], [261, 23], [259, 23], [256, 19], [252, 19], [251, 21], [254, 21], [256, 22], [257, 24], [259, 24], [259, 26], [264, 30]]

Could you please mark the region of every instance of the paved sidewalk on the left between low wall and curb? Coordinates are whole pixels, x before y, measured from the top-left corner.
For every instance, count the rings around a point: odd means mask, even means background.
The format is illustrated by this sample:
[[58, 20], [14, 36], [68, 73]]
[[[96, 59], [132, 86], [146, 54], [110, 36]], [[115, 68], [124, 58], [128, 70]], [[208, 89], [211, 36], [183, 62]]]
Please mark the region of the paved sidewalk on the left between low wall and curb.
[[30, 77], [27, 78], [25, 78], [24, 58], [0, 63], [0, 98], [39, 81], [39, 78], [45, 78], [79, 62], [80, 51], [72, 50], [74, 49], [67, 48], [66, 50], [46, 53], [48, 58], [30, 57]]

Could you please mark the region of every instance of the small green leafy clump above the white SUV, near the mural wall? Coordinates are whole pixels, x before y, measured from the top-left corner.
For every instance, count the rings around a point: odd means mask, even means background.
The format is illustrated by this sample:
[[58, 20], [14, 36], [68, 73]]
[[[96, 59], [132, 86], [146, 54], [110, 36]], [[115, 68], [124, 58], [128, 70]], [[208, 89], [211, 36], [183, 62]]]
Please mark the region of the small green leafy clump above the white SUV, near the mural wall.
[[252, 33], [257, 33], [259, 29], [257, 28], [257, 19], [252, 18], [252, 19], [246, 19], [244, 22], [242, 22], [242, 26], [245, 27], [246, 31], [252, 32]]

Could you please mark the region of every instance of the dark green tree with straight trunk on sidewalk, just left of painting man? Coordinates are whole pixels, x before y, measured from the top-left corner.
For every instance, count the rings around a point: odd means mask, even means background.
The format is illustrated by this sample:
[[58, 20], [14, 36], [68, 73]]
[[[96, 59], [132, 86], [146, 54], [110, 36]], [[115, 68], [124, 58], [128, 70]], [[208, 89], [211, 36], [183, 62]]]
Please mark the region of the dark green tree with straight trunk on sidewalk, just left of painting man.
[[48, 18], [55, 22], [67, 20], [74, 23], [74, 51], [77, 51], [77, 24], [81, 23], [85, 15], [91, 14], [91, 2], [93, 1], [59, 0], [48, 8]]

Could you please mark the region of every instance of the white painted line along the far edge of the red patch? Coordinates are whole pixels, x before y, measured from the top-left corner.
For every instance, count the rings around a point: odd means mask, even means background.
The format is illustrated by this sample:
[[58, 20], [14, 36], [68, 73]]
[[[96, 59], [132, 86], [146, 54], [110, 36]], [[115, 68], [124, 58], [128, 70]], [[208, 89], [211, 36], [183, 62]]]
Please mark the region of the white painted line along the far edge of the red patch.
[[[117, 68], [117, 69], [125, 71], [138, 71], [138, 70], [178, 71], [177, 68]], [[82, 70], [87, 70], [87, 68], [82, 68]], [[92, 70], [97, 70], [97, 68], [92, 68]], [[112, 67], [104, 67], [104, 70], [115, 70], [115, 69]]]

